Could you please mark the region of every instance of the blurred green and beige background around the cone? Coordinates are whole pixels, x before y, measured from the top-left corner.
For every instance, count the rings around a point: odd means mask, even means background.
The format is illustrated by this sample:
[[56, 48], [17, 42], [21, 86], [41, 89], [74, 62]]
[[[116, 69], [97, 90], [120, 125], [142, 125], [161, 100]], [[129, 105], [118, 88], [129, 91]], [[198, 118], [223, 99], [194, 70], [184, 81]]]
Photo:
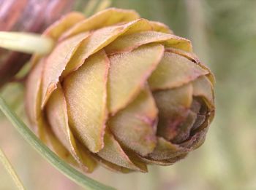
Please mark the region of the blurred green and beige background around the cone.
[[[217, 114], [200, 149], [149, 173], [113, 173], [99, 167], [92, 178], [117, 189], [256, 189], [256, 1], [113, 0], [191, 39], [195, 53], [214, 72]], [[2, 95], [25, 119], [23, 92], [10, 84]], [[27, 189], [80, 189], [37, 154], [0, 114], [0, 146]], [[15, 189], [0, 164], [0, 189]]]

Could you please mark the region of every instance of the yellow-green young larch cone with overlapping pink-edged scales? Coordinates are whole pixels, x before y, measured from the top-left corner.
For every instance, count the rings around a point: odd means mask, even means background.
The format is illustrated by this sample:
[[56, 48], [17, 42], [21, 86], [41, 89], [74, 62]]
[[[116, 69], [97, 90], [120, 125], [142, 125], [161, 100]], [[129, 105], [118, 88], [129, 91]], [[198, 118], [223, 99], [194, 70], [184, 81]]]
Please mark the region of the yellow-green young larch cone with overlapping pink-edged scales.
[[37, 135], [60, 157], [91, 172], [147, 172], [197, 149], [214, 117], [214, 76], [189, 40], [137, 12], [72, 12], [34, 56], [26, 106]]

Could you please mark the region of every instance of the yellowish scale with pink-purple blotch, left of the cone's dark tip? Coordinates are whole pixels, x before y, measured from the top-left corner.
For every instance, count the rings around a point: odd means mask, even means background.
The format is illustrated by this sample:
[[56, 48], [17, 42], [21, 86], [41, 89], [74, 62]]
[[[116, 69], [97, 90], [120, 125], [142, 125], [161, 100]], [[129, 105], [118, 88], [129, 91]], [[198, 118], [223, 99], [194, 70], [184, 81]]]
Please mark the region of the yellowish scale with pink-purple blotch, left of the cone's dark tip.
[[154, 98], [146, 88], [132, 103], [109, 119], [108, 127], [123, 146], [146, 156], [157, 144], [157, 112]]

